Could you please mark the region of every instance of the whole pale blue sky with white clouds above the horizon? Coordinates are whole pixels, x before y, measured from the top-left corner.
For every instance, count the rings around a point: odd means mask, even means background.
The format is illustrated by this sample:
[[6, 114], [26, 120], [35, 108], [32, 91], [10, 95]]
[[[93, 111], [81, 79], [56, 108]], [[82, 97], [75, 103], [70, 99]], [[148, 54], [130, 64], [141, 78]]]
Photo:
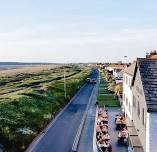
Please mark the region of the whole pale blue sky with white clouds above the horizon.
[[157, 49], [156, 10], [156, 0], [0, 0], [0, 61], [132, 62]]

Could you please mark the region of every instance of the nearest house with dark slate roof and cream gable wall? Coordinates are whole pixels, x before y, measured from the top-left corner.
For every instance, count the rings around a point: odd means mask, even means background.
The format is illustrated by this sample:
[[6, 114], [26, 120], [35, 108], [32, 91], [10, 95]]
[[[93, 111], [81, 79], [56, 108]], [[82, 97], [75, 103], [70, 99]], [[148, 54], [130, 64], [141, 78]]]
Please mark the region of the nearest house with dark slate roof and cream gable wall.
[[157, 152], [157, 60], [137, 59], [132, 95], [132, 120], [143, 150]]

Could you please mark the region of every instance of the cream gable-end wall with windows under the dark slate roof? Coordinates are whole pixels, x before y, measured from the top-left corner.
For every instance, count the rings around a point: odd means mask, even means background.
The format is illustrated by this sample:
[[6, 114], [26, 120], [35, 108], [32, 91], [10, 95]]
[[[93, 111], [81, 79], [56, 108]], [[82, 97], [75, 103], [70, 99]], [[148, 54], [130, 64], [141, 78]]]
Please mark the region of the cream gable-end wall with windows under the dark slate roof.
[[[133, 101], [133, 122], [135, 124], [135, 128], [137, 130], [137, 134], [143, 146], [143, 149], [146, 151], [146, 138], [147, 138], [147, 130], [149, 127], [148, 119], [147, 119], [147, 105], [143, 90], [143, 84], [140, 76], [140, 71], [137, 69], [136, 78], [134, 82], [134, 86], [132, 87], [133, 96], [136, 100]], [[139, 105], [139, 106], [138, 106]], [[143, 117], [143, 109], [144, 109], [144, 117]], [[144, 123], [143, 123], [144, 118]]]

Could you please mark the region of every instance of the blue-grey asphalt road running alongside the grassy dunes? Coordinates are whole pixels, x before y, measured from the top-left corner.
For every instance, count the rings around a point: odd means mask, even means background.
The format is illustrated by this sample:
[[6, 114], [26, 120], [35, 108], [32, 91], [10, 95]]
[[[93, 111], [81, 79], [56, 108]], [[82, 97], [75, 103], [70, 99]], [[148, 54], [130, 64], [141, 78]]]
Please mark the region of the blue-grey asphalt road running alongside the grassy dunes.
[[[92, 78], [97, 79], [94, 70]], [[71, 152], [83, 114], [94, 84], [86, 84], [45, 134], [34, 142], [27, 152]]]

